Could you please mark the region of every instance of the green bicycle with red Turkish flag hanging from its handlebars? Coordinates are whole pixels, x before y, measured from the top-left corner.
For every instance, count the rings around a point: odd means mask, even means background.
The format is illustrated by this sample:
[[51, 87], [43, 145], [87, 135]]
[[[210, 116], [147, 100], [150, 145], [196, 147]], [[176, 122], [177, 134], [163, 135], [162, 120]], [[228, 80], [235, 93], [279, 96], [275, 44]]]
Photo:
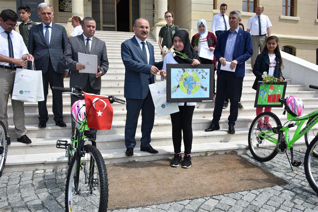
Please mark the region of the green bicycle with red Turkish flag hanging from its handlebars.
[[[82, 89], [79, 87], [52, 87], [52, 90], [71, 94], [75, 97], [84, 96]], [[117, 99], [114, 96], [100, 99], [108, 99], [110, 103], [125, 103], [124, 100]], [[96, 101], [94, 100], [94, 103]], [[76, 112], [74, 112], [73, 106]], [[108, 178], [106, 165], [100, 151], [96, 148], [95, 138], [87, 126], [85, 101], [76, 101], [73, 106], [71, 113], [76, 126], [71, 142], [62, 140], [56, 142], [56, 148], [65, 149], [65, 155], [68, 157], [65, 211], [107, 211]], [[86, 107], [88, 106], [86, 105]], [[91, 107], [92, 105], [89, 109]], [[85, 142], [91, 142], [92, 144], [85, 144]]]

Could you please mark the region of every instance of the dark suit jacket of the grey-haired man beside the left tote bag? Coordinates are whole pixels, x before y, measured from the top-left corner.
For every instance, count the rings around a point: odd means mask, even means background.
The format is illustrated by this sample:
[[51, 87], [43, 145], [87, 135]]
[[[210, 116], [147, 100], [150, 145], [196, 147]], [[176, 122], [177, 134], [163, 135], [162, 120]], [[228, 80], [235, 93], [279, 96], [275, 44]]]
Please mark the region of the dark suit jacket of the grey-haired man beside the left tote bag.
[[50, 45], [44, 40], [42, 23], [33, 26], [30, 30], [28, 50], [34, 56], [36, 70], [42, 70], [45, 74], [48, 60], [51, 58], [52, 67], [55, 72], [64, 74], [65, 66], [62, 62], [63, 53], [66, 49], [67, 33], [63, 26], [52, 22], [52, 35]]

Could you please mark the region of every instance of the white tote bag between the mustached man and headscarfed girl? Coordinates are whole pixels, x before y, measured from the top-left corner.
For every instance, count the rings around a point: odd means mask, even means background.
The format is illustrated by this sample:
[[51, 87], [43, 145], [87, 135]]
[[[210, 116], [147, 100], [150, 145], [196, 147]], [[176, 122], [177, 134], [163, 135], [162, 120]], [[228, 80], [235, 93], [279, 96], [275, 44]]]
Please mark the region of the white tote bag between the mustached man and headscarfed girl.
[[179, 112], [178, 103], [167, 102], [166, 81], [150, 84], [149, 89], [158, 117]]

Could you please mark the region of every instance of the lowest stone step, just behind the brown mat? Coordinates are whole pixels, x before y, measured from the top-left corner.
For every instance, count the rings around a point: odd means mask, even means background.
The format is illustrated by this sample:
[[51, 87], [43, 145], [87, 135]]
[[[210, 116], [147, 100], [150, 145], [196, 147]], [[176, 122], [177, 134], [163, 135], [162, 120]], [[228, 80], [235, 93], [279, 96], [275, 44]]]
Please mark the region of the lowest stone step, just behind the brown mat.
[[[294, 149], [305, 147], [303, 141], [294, 143]], [[142, 152], [139, 148], [134, 149], [134, 156], [125, 155], [126, 148], [100, 150], [106, 164], [128, 161], [153, 161], [158, 159], [171, 159], [174, 154], [172, 145], [153, 146], [159, 151], [157, 154]], [[182, 146], [183, 149], [183, 146]], [[10, 150], [10, 149], [9, 149]], [[239, 155], [249, 152], [246, 140], [233, 142], [208, 142], [192, 145], [191, 156], [222, 154], [236, 151]], [[56, 153], [34, 153], [24, 155], [8, 155], [4, 172], [32, 171], [35, 169], [65, 169], [67, 168], [67, 157], [64, 152]]]

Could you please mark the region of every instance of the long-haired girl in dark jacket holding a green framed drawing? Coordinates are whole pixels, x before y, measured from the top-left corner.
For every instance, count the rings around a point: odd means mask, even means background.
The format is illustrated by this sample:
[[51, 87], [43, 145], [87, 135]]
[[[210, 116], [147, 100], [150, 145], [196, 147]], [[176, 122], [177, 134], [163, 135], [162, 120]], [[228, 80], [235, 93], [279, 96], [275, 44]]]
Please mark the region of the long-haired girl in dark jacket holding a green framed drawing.
[[[256, 58], [253, 74], [256, 76], [255, 82], [252, 86], [252, 89], [257, 89], [257, 82], [263, 81], [262, 75], [263, 72], [266, 71], [269, 76], [274, 76], [279, 79], [279, 83], [284, 81], [283, 74], [281, 70], [284, 68], [283, 61], [280, 56], [280, 49], [278, 46], [278, 38], [276, 36], [269, 36], [266, 39], [266, 46], [261, 54], [259, 54]], [[271, 112], [272, 108], [265, 108], [264, 112]], [[256, 108], [256, 116], [263, 112], [263, 108]], [[269, 117], [264, 118], [264, 122], [258, 124], [259, 129], [271, 129], [271, 125], [269, 122]]]

